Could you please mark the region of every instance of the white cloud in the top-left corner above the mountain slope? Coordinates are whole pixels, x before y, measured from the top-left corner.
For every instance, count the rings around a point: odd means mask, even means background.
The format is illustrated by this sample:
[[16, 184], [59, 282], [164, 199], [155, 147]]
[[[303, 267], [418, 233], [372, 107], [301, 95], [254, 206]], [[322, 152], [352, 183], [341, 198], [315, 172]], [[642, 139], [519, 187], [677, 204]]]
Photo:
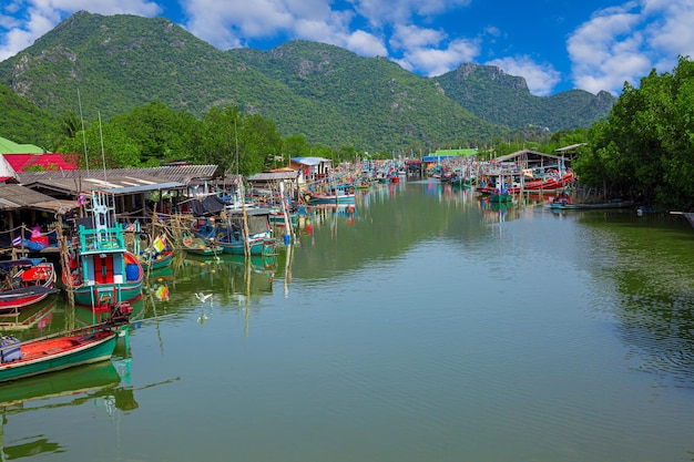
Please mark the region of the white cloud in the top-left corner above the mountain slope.
[[[86, 10], [100, 14], [130, 13], [144, 17], [159, 14], [162, 9], [154, 2], [143, 0], [32, 0], [28, 6], [20, 2], [3, 7], [11, 16], [0, 16], [0, 61], [13, 57], [50, 32], [60, 21], [75, 11]], [[19, 17], [19, 13], [25, 12]]]

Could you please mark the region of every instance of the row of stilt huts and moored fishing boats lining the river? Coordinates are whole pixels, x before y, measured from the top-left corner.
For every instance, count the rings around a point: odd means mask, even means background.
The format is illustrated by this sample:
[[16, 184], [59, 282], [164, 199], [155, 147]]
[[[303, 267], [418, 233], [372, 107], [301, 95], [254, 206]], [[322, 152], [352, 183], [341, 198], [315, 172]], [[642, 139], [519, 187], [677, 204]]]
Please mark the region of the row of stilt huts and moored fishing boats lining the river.
[[170, 266], [176, 253], [272, 259], [277, 246], [296, 239], [307, 208], [354, 209], [359, 192], [408, 178], [472, 188], [483, 206], [531, 197], [570, 206], [575, 182], [567, 153], [575, 147], [487, 162], [474, 150], [337, 166], [297, 157], [247, 178], [181, 164], [17, 172], [3, 156], [0, 326], [30, 324], [34, 318], [20, 321], [22, 311], [59, 291], [101, 322], [115, 305], [141, 297], [150, 274]]

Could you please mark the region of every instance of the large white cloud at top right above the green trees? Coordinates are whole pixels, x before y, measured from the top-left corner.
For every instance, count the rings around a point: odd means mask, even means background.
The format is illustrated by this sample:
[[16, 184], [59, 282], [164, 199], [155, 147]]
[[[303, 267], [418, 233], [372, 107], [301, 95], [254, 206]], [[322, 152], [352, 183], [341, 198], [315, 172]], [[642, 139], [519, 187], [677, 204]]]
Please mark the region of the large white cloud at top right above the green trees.
[[694, 55], [692, 23], [691, 0], [643, 0], [595, 12], [567, 43], [574, 84], [616, 94], [654, 68], [672, 71], [677, 54]]

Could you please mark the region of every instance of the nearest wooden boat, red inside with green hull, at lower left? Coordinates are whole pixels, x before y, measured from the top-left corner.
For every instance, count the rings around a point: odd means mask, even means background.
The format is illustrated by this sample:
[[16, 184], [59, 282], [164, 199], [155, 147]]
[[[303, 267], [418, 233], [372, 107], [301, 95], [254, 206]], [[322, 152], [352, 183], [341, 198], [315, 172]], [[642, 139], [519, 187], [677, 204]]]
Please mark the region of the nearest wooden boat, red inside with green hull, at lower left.
[[112, 304], [110, 319], [100, 325], [25, 341], [2, 337], [0, 382], [110, 359], [118, 329], [129, 322], [131, 312], [127, 302]]

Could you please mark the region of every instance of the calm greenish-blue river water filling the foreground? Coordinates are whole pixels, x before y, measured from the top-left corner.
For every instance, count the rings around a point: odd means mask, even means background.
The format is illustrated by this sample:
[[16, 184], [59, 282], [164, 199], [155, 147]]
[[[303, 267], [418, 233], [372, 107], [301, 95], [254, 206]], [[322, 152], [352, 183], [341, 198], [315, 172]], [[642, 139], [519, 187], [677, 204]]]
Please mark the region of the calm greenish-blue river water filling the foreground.
[[[2, 408], [4, 456], [694, 460], [684, 218], [499, 211], [411, 182], [300, 225], [276, 260], [155, 275], [111, 363], [0, 386], [37, 388]], [[19, 335], [90, 316], [58, 301]]]

